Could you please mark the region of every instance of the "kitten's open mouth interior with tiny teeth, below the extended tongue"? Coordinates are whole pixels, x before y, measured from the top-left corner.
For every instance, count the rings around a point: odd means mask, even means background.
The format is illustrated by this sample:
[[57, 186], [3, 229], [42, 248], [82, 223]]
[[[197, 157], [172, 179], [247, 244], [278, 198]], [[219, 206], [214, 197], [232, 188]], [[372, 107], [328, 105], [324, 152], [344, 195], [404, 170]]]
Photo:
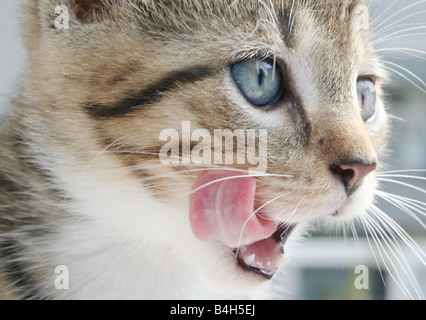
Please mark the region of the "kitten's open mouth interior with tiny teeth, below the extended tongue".
[[235, 249], [238, 265], [271, 279], [278, 268], [289, 261], [288, 257], [284, 257], [284, 244], [293, 229], [294, 225], [283, 225], [271, 237]]

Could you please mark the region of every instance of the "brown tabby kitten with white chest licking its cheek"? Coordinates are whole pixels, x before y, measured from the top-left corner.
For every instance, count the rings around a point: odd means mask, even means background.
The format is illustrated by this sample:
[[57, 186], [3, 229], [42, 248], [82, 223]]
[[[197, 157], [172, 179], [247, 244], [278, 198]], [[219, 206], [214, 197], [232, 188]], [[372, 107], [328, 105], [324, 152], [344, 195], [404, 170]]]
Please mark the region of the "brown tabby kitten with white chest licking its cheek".
[[[250, 297], [310, 221], [363, 215], [388, 128], [364, 5], [27, 1], [28, 72], [1, 129], [0, 297]], [[267, 170], [185, 162], [188, 123], [257, 130], [254, 146], [266, 130]]]

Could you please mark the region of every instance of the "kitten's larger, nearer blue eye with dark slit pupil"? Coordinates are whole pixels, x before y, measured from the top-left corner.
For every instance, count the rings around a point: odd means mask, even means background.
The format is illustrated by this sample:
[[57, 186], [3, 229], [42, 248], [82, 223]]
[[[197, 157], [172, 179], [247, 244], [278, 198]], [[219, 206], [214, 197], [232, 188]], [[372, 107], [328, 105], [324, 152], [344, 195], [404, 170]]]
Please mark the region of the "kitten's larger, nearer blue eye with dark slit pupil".
[[266, 109], [280, 99], [283, 75], [271, 59], [238, 62], [231, 73], [242, 94], [255, 106]]

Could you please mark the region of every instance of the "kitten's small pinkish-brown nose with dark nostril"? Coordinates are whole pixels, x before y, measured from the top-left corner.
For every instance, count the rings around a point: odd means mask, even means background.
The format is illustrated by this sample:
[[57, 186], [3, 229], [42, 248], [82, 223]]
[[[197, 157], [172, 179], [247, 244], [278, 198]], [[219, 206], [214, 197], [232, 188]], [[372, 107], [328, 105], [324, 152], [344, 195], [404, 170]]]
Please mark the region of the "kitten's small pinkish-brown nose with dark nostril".
[[355, 192], [369, 173], [376, 170], [376, 167], [376, 163], [364, 164], [362, 162], [353, 162], [332, 165], [330, 169], [342, 181], [349, 196]]

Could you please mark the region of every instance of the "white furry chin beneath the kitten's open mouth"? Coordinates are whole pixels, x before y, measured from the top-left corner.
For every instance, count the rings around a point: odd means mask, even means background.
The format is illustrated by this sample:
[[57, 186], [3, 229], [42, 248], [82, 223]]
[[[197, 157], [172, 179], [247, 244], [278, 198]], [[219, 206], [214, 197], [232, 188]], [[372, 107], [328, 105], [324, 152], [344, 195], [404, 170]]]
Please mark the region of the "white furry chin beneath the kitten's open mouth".
[[250, 266], [250, 262], [253, 264], [253, 261], [244, 262], [244, 257], [251, 254], [244, 256], [239, 252], [242, 248], [229, 248], [218, 241], [203, 242], [195, 237], [187, 238], [187, 243], [179, 245], [180, 253], [188, 268], [193, 270], [194, 276], [213, 297], [225, 299], [258, 297], [259, 292], [264, 292], [263, 289], [274, 281], [279, 271], [285, 272], [285, 265], [290, 261], [290, 257], [285, 254], [286, 247], [300, 240], [305, 229], [306, 224], [303, 223], [293, 226], [281, 243], [278, 239], [267, 239], [272, 246], [274, 242], [276, 243], [277, 251], [274, 258], [279, 259], [273, 269], [268, 270], [261, 266], [258, 268]]

